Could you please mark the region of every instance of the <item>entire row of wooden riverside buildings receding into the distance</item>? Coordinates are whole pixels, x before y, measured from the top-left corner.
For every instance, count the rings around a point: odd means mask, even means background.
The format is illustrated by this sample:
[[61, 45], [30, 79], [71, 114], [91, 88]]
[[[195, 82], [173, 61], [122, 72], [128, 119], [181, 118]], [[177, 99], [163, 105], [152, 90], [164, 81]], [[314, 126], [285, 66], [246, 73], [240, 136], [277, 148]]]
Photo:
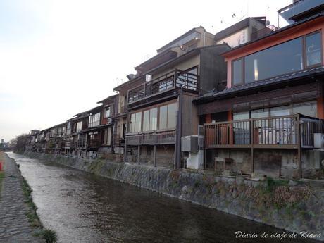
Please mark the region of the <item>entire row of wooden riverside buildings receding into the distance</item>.
[[323, 1], [246, 18], [216, 35], [195, 27], [135, 67], [116, 95], [33, 130], [28, 149], [167, 168], [273, 177], [323, 170]]

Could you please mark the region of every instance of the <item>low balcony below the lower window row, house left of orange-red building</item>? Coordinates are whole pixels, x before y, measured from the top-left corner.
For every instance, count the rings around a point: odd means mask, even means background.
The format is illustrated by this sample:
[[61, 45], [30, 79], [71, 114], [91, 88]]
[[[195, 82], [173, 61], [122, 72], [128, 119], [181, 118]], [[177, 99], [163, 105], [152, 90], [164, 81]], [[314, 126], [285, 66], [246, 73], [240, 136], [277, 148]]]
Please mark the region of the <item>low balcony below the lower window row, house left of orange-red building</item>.
[[175, 144], [175, 130], [126, 134], [125, 136], [127, 145]]

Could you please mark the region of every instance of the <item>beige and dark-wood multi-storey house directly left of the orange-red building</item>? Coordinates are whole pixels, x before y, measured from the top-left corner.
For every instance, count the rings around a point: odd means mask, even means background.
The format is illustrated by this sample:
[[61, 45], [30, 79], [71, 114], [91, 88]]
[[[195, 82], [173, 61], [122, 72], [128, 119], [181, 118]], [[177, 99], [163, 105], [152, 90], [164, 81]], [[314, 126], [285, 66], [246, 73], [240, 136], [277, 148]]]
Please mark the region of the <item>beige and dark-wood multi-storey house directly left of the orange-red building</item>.
[[[227, 44], [215, 45], [213, 35], [208, 36], [211, 45], [204, 46], [206, 34], [204, 39], [196, 31], [194, 28], [158, 49], [161, 52], [154, 58], [135, 68], [139, 75], [124, 84], [125, 161], [182, 167], [181, 137], [198, 132], [192, 100], [206, 90], [219, 89], [226, 77], [224, 59], [219, 54], [230, 49]], [[187, 42], [197, 43], [184, 50]]]

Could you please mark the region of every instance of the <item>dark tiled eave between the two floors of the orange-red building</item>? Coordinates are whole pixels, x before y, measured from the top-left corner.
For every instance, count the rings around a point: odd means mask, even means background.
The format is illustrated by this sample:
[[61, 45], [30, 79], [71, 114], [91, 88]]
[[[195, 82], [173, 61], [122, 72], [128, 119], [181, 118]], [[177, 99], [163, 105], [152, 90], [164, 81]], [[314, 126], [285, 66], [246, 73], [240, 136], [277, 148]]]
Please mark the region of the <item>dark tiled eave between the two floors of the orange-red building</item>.
[[296, 73], [289, 73], [289, 74], [285, 74], [285, 75], [280, 75], [278, 77], [270, 77], [266, 80], [260, 80], [260, 81], [255, 81], [255, 82], [250, 82], [248, 84], [245, 85], [239, 85], [239, 86], [235, 86], [235, 87], [231, 87], [229, 89], [224, 89], [221, 92], [209, 92], [207, 94], [205, 94], [203, 97], [199, 98], [198, 100], [203, 101], [206, 99], [212, 99], [213, 97], [217, 98], [219, 96], [225, 96], [227, 94], [233, 94], [233, 93], [237, 93], [237, 92], [244, 92], [246, 90], [249, 89], [256, 89], [256, 88], [260, 88], [260, 87], [264, 87], [267, 85], [273, 85], [275, 83], [280, 83], [280, 82], [285, 82], [288, 80], [294, 80], [300, 77], [307, 77], [309, 75], [313, 75], [313, 74], [318, 74], [318, 73], [324, 73], [324, 66], [320, 66], [320, 67], [316, 67], [316, 68], [311, 68], [311, 69], [307, 69], [307, 70], [301, 70], [299, 72]]

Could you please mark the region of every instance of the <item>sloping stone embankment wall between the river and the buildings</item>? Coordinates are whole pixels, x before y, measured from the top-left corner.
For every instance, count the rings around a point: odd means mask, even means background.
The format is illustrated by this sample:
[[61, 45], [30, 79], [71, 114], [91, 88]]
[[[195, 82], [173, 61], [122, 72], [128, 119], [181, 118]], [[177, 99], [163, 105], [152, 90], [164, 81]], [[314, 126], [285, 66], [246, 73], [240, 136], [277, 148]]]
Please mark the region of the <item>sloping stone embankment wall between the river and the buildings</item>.
[[324, 241], [324, 189], [302, 182], [260, 182], [55, 154], [27, 152], [25, 156], [61, 163], [280, 229], [316, 234], [316, 239], [321, 234], [320, 240]]

